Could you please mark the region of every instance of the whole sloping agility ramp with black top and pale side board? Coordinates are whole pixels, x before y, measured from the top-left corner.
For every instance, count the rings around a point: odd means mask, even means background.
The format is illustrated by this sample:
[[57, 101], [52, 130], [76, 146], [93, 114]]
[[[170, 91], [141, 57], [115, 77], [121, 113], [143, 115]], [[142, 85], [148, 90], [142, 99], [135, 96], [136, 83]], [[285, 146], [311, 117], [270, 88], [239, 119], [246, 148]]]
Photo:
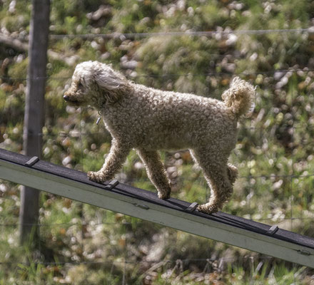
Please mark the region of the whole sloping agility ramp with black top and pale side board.
[[196, 203], [158, 199], [117, 180], [100, 185], [84, 172], [37, 157], [0, 149], [0, 179], [314, 268], [311, 237], [223, 212], [203, 214]]

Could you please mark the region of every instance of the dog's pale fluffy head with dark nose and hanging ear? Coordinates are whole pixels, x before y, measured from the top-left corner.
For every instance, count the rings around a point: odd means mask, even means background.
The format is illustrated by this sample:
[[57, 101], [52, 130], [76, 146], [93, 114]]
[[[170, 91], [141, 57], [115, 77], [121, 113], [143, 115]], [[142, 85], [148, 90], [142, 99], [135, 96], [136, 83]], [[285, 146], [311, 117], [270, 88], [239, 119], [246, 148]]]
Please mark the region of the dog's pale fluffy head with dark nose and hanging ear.
[[115, 103], [128, 88], [127, 79], [111, 66], [98, 61], [79, 63], [72, 76], [64, 100], [74, 106], [92, 105], [101, 108]]

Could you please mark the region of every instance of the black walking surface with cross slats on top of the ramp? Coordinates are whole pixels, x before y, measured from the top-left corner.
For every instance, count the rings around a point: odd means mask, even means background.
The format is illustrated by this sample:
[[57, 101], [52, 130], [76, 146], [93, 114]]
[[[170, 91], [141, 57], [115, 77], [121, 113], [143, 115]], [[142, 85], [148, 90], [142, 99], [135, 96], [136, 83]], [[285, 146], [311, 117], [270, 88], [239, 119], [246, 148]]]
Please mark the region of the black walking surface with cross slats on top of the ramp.
[[[16, 152], [10, 152], [8, 150], [0, 149], [0, 160], [5, 160], [7, 162], [11, 162], [16, 165], [23, 165], [24, 167], [31, 167], [35, 170], [47, 172], [52, 175], [64, 177], [69, 180], [74, 180], [74, 181], [81, 182], [87, 185], [93, 185], [102, 189], [103, 191], [111, 191], [111, 192], [118, 193], [119, 195], [127, 195], [129, 197], [134, 197], [142, 201], [158, 204], [163, 207], [176, 209], [178, 211], [185, 211], [191, 205], [191, 202], [181, 201], [181, 200], [173, 199], [173, 198], [162, 200], [157, 197], [156, 193], [139, 189], [136, 187], [131, 187], [129, 185], [124, 185], [122, 183], [118, 183], [118, 185], [114, 186], [111, 190], [106, 190], [105, 187], [106, 185], [108, 185], [108, 182], [105, 183], [104, 185], [98, 184], [96, 182], [91, 182], [90, 180], [88, 180], [88, 177], [86, 176], [86, 173], [84, 172], [80, 172], [78, 170], [72, 170], [70, 168], [66, 168], [60, 165], [54, 165], [50, 162], [45, 162], [43, 160], [36, 160], [36, 158], [27, 157], [25, 155], [21, 155]], [[29, 162], [29, 163], [26, 163], [26, 162]], [[269, 231], [271, 226], [269, 226], [268, 224], [254, 222], [253, 220], [233, 216], [232, 214], [227, 214], [224, 212], [218, 212], [218, 213], [210, 214], [210, 215], [203, 214], [198, 211], [187, 212], [187, 213], [193, 214], [198, 217], [206, 218], [206, 219], [211, 219], [213, 221], [220, 222], [223, 224], [228, 224], [232, 227], [238, 227], [240, 229], [245, 229], [250, 232], [256, 232], [258, 234], [268, 235], [275, 239], [280, 239], [286, 242], [299, 244], [299, 245], [314, 249], [313, 238], [306, 237], [301, 234], [296, 234], [294, 232], [289, 232], [284, 229], [278, 229], [278, 230], [275, 229], [272, 232], [272, 231]]]

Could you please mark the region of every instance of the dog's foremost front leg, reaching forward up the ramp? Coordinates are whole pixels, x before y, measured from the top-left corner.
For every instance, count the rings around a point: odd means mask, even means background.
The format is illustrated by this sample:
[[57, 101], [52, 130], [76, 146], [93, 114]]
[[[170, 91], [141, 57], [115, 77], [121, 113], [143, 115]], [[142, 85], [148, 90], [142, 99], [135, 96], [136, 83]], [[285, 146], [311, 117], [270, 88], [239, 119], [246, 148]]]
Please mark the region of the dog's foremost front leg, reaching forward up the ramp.
[[103, 163], [103, 167], [97, 172], [89, 171], [87, 173], [89, 180], [101, 183], [113, 179], [116, 172], [121, 169], [123, 162], [126, 161], [130, 150], [131, 147], [128, 147], [126, 143], [112, 140], [111, 149]]

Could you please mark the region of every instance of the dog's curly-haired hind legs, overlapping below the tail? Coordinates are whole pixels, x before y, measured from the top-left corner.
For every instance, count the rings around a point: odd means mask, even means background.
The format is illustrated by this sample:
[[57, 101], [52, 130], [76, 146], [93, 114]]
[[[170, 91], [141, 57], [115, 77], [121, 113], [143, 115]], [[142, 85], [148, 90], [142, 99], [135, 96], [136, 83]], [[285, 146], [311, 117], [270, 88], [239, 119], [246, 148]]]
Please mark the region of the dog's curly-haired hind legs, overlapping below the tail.
[[201, 150], [191, 150], [191, 154], [202, 168], [203, 174], [211, 187], [211, 197], [208, 203], [198, 206], [200, 212], [211, 214], [218, 212], [232, 195], [232, 183], [236, 180], [236, 167], [227, 165], [226, 157], [213, 152], [213, 149], [203, 147]]

